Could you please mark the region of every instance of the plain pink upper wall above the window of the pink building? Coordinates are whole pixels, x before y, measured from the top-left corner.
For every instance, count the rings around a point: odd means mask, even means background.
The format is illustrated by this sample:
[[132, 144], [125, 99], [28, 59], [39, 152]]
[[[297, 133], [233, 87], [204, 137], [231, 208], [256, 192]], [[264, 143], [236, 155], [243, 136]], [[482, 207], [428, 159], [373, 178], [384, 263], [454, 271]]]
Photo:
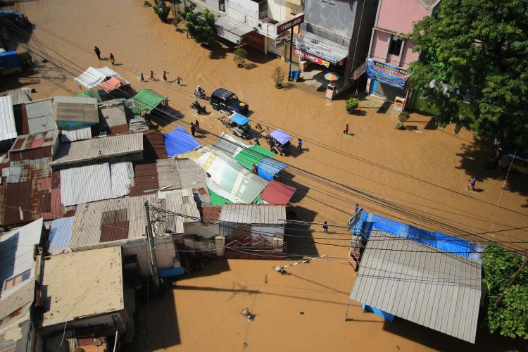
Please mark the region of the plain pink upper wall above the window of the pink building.
[[407, 34], [413, 31], [413, 22], [429, 13], [417, 0], [382, 0], [376, 27]]

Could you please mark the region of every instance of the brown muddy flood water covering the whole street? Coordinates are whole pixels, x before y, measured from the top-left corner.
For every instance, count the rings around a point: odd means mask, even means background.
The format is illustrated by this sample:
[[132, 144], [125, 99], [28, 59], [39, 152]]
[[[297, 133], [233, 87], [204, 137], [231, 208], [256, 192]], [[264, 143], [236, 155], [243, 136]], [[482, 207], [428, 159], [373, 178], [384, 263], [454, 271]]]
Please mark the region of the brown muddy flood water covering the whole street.
[[[344, 101], [327, 101], [313, 82], [275, 89], [272, 70], [287, 64], [249, 50], [249, 65], [237, 68], [233, 48], [210, 50], [175, 32], [139, 0], [37, 0], [18, 3], [36, 25], [27, 43], [37, 73], [4, 80], [4, 89], [34, 87], [33, 100], [80, 92], [73, 77], [89, 66], [111, 66], [136, 91], [151, 88], [169, 98], [173, 117], [160, 128], [190, 130], [198, 119], [212, 144], [224, 127], [217, 112], [198, 116], [189, 108], [193, 90], [224, 87], [249, 103], [253, 122], [281, 128], [303, 139], [303, 152], [279, 157], [299, 187], [293, 207], [297, 220], [345, 225], [353, 206], [446, 234], [479, 234], [484, 239], [527, 241], [528, 182], [520, 175], [485, 170], [488, 146], [471, 132], [436, 129], [432, 118], [412, 113], [406, 131], [395, 130], [394, 114], [379, 110], [375, 98], [360, 101], [360, 115], [348, 115]], [[370, 34], [369, 34], [370, 35]], [[103, 61], [94, 55], [102, 51]], [[47, 62], [42, 63], [42, 58]], [[158, 80], [150, 81], [150, 70]], [[168, 82], [161, 74], [168, 71]], [[147, 82], [140, 82], [144, 73]], [[174, 82], [182, 77], [182, 85]], [[9, 86], [9, 87], [8, 87]], [[344, 125], [350, 134], [342, 133]], [[477, 190], [466, 191], [477, 176]], [[500, 203], [499, 202], [500, 199]], [[522, 228], [524, 227], [524, 228]], [[308, 230], [306, 228], [305, 230]], [[318, 237], [318, 244], [291, 241], [291, 253], [329, 256], [278, 275], [285, 260], [215, 260], [172, 291], [139, 309], [135, 351], [499, 351], [526, 346], [490, 337], [479, 329], [472, 345], [406, 320], [383, 322], [352, 302], [344, 320], [354, 272], [346, 263], [348, 244], [340, 228], [320, 226], [294, 233]], [[291, 230], [294, 231], [294, 230]], [[501, 231], [501, 232], [497, 232]], [[492, 232], [496, 232], [493, 234]], [[332, 239], [332, 241], [325, 240]], [[334, 241], [342, 239], [343, 241]], [[338, 243], [344, 246], [328, 246]], [[508, 244], [519, 249], [521, 244]], [[524, 244], [526, 246], [526, 244]], [[241, 310], [250, 308], [248, 322]]]

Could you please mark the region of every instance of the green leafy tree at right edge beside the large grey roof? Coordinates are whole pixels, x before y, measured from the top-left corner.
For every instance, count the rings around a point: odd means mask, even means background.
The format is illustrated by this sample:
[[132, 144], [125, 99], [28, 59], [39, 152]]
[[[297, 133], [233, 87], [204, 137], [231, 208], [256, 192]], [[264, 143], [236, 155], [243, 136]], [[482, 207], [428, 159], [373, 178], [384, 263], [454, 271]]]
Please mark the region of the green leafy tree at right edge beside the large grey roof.
[[[522, 264], [522, 257], [505, 251], [498, 244], [488, 244], [482, 255], [483, 281], [488, 289], [486, 320], [490, 332], [507, 337], [528, 339], [528, 270], [524, 269], [515, 284], [506, 289], [510, 277]], [[498, 294], [504, 294], [495, 308]]]

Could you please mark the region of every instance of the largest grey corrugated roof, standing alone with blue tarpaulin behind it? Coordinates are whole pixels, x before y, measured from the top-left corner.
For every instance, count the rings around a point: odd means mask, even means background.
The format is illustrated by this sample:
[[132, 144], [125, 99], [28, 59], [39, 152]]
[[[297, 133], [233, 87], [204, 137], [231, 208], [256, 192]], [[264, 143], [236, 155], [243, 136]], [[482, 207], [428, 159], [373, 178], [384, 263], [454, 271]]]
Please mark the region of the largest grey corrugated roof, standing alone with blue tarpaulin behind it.
[[474, 343], [481, 263], [371, 232], [351, 299]]

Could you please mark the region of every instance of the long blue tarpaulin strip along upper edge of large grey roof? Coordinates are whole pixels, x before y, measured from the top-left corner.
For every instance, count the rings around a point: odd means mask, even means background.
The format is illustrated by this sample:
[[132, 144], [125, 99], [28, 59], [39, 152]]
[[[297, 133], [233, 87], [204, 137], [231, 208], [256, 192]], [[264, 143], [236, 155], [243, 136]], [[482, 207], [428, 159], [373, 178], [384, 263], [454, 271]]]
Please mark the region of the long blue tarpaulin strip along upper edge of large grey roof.
[[479, 252], [484, 250], [484, 246], [481, 244], [465, 241], [441, 232], [423, 230], [419, 227], [384, 218], [381, 215], [367, 213], [366, 211], [363, 211], [361, 219], [357, 222], [356, 229], [360, 229], [360, 231], [356, 230], [356, 234], [360, 232], [366, 239], [370, 237], [372, 230], [378, 230], [475, 260], [481, 260]]

